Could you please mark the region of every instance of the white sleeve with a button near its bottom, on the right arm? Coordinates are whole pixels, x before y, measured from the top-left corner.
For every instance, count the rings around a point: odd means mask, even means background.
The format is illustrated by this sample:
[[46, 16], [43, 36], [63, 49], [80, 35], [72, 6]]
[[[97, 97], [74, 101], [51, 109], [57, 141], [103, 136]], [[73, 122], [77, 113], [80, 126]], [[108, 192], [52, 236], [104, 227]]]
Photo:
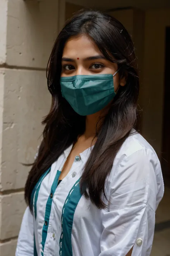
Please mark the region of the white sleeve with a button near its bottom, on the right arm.
[[111, 184], [109, 211], [103, 216], [99, 256], [126, 256], [132, 247], [132, 256], [150, 255], [157, 193], [160, 201], [163, 188], [160, 163], [150, 149], [121, 162]]

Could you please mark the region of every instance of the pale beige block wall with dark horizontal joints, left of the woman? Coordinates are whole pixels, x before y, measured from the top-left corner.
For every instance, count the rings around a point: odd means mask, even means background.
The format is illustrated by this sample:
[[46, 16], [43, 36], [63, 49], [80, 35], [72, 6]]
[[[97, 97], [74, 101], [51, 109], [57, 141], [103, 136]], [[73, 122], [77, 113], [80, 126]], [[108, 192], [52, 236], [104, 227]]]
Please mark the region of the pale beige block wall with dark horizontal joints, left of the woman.
[[15, 255], [24, 185], [51, 104], [46, 65], [64, 0], [0, 0], [0, 255]]

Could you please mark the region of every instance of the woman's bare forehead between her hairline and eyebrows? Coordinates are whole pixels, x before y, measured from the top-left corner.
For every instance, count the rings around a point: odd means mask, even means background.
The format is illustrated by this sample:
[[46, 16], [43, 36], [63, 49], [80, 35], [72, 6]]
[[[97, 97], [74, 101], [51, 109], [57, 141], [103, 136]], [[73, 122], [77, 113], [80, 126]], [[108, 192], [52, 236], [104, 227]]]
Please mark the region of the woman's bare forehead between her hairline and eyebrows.
[[96, 54], [101, 54], [98, 46], [86, 35], [70, 37], [63, 49], [63, 56], [69, 58], [85, 58]]

